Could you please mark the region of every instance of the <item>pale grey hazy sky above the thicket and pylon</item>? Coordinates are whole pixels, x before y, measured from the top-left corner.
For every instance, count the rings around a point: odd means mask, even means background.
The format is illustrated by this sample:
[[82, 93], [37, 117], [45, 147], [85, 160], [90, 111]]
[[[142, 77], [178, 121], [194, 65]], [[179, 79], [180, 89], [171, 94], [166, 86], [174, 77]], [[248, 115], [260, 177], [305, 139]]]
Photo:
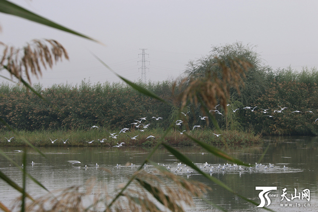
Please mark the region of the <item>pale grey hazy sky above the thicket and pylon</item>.
[[182, 74], [189, 60], [209, 54], [212, 46], [236, 41], [255, 46], [274, 70], [318, 67], [318, 1], [12, 2], [106, 45], [0, 13], [0, 41], [23, 47], [34, 38], [49, 38], [67, 49], [70, 60], [58, 62], [39, 79], [44, 87], [66, 82], [75, 86], [84, 79], [120, 81], [90, 52], [135, 81], [141, 77], [138, 54], [145, 48], [147, 80], [163, 81]]

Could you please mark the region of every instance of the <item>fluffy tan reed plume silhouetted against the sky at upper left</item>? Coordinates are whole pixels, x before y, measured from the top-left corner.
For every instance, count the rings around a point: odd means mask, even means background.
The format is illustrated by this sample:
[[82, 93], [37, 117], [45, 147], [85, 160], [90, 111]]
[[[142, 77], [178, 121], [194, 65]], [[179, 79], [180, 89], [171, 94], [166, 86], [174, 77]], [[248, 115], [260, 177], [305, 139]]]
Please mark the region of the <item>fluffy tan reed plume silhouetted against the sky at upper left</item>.
[[69, 59], [65, 48], [56, 40], [32, 40], [31, 44], [21, 49], [9, 47], [0, 42], [3, 47], [3, 55], [0, 59], [0, 69], [7, 69], [12, 76], [19, 81], [25, 75], [31, 83], [31, 75], [42, 76], [42, 66], [52, 68], [54, 63], [62, 58]]

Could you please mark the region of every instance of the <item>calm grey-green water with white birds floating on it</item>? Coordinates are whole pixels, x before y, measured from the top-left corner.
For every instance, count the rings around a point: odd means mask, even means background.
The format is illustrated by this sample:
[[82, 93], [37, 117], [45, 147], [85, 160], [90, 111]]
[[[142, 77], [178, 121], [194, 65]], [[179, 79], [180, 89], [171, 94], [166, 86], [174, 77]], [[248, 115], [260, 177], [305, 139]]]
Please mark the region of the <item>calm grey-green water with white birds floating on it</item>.
[[[316, 137], [269, 137], [265, 138], [263, 144], [249, 147], [234, 147], [226, 150], [231, 156], [238, 158], [246, 163], [255, 164], [259, 162], [262, 154], [269, 146], [264, 158], [260, 163], [262, 166], [249, 169], [244, 167], [240, 170], [237, 167], [227, 166], [224, 170], [217, 168], [220, 164], [223, 166], [228, 161], [217, 158], [207, 153], [200, 147], [183, 147], [178, 148], [197, 166], [203, 168], [204, 164], [215, 167], [212, 176], [224, 182], [230, 188], [235, 190], [248, 199], [260, 204], [259, 193], [261, 190], [255, 190], [255, 186], [276, 186], [277, 190], [272, 190], [270, 194], [277, 197], [271, 197], [269, 208], [276, 211], [316, 211], [317, 201], [317, 178], [316, 173], [318, 160], [318, 138]], [[1, 147], [6, 154], [16, 163], [22, 164], [22, 153], [14, 150], [22, 150], [21, 147]], [[84, 185], [88, 179], [96, 178], [98, 182], [107, 184], [109, 190], [113, 190], [121, 183], [127, 182], [127, 179], [137, 170], [151, 149], [122, 147], [41, 147], [41, 152], [45, 153], [47, 158], [43, 158], [32, 149], [28, 151], [27, 170], [31, 176], [41, 182], [49, 190], [58, 188], [66, 188], [72, 185]], [[81, 164], [73, 164], [67, 162], [71, 160], [81, 161]], [[174, 172], [178, 160], [165, 149], [157, 150], [151, 157], [156, 163], [169, 165], [171, 172]], [[31, 162], [35, 164], [32, 166]], [[99, 165], [96, 168], [96, 163]], [[136, 164], [130, 167], [128, 163]], [[269, 167], [269, 163], [274, 167]], [[120, 168], [116, 164], [121, 164]], [[125, 165], [127, 164], [127, 165]], [[231, 163], [229, 163], [231, 164]], [[265, 168], [265, 165], [268, 167]], [[84, 168], [85, 165], [88, 168]], [[231, 164], [232, 165], [232, 164]], [[284, 165], [286, 168], [283, 168]], [[0, 158], [0, 170], [8, 175], [15, 183], [22, 186], [22, 174], [17, 167], [5, 158]], [[210, 168], [204, 168], [204, 172], [209, 174]], [[147, 171], [153, 171], [152, 166], [147, 167]], [[189, 171], [192, 171], [191, 169]], [[187, 175], [187, 167], [183, 166], [183, 171], [176, 173], [177, 175], [188, 178], [189, 180], [197, 180], [209, 185], [212, 190], [204, 197], [213, 203], [228, 209], [229, 211], [255, 211], [255, 205], [247, 203], [245, 200], [232, 195], [224, 188], [207, 180], [205, 177], [196, 174]], [[286, 189], [286, 197], [290, 201], [282, 199], [283, 189]], [[298, 198], [291, 200], [291, 194], [295, 196], [304, 189], [310, 190], [310, 201]], [[13, 200], [18, 196], [18, 192], [13, 190], [4, 181], [0, 181], [0, 200], [7, 206], [13, 205]], [[28, 192], [33, 196], [42, 196], [46, 192], [36, 185], [33, 181], [27, 181]], [[111, 192], [111, 191], [110, 191]], [[194, 199], [196, 207], [187, 208], [190, 211], [196, 210], [214, 210], [215, 208], [208, 205], [200, 199]], [[282, 205], [289, 203], [290, 205]], [[266, 202], [267, 204], [267, 202]], [[310, 206], [308, 206], [310, 204]], [[261, 209], [260, 209], [261, 210]]]

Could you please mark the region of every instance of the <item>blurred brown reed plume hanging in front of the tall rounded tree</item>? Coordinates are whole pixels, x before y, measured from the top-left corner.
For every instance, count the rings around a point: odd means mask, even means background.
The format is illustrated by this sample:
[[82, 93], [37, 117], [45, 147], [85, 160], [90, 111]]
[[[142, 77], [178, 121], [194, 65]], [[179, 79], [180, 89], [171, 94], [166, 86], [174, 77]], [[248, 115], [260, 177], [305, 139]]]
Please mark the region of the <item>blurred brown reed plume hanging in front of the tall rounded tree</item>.
[[[180, 86], [186, 88], [176, 98], [177, 102], [181, 102], [183, 109], [187, 101], [198, 105], [198, 98], [201, 98], [209, 110], [215, 108], [217, 100], [227, 113], [227, 101], [230, 97], [230, 88], [235, 88], [240, 93], [240, 87], [244, 86], [243, 78], [246, 77], [245, 72], [252, 67], [251, 63], [241, 59], [229, 59], [229, 64], [225, 60], [215, 57], [216, 62], [210, 64], [206, 68], [206, 75], [197, 78], [185, 78], [181, 81]], [[218, 77], [216, 72], [211, 69], [217, 66], [221, 70], [222, 77]], [[173, 88], [175, 88], [175, 84]], [[203, 113], [204, 110], [202, 108]]]

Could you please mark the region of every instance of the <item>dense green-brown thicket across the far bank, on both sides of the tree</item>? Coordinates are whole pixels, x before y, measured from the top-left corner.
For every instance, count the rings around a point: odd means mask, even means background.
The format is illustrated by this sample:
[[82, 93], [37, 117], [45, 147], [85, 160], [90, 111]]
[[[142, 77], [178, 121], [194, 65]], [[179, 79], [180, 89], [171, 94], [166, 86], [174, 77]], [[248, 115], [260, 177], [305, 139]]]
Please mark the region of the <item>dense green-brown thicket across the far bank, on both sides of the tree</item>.
[[[241, 95], [233, 93], [227, 115], [217, 107], [223, 114], [214, 114], [221, 129], [268, 135], [318, 135], [318, 121], [315, 122], [318, 118], [318, 71], [304, 69], [297, 73], [289, 68], [266, 72], [263, 77], [268, 82], [264, 92], [255, 91], [252, 96], [242, 89]], [[164, 81], [141, 85], [173, 102], [177, 95], [177, 92], [172, 93], [173, 83]], [[46, 101], [23, 87], [6, 83], [0, 85], [1, 118], [12, 128], [67, 131], [89, 130], [92, 125], [98, 125], [118, 130], [132, 126], [129, 124], [134, 119], [147, 117], [145, 123], [150, 123], [151, 128], [166, 129], [177, 115], [177, 107], [140, 94], [124, 83], [91, 84], [82, 81], [79, 86], [55, 84], [43, 89], [35, 84], [34, 88]], [[242, 99], [247, 98], [253, 100], [244, 104]], [[276, 111], [281, 110], [279, 106], [287, 109], [278, 113]], [[245, 107], [256, 108], [251, 111], [243, 109]], [[235, 109], [239, 110], [234, 113]], [[202, 125], [202, 128], [214, 127], [211, 121], [199, 118], [204, 114], [194, 104], [188, 104], [184, 112], [188, 111], [187, 117], [184, 117], [188, 121], [188, 129], [196, 124]], [[291, 113], [293, 111], [300, 112]], [[153, 116], [163, 119], [156, 121], [151, 118]], [[2, 124], [1, 129], [6, 129], [6, 126]], [[186, 126], [181, 126], [180, 130], [186, 130]]]

